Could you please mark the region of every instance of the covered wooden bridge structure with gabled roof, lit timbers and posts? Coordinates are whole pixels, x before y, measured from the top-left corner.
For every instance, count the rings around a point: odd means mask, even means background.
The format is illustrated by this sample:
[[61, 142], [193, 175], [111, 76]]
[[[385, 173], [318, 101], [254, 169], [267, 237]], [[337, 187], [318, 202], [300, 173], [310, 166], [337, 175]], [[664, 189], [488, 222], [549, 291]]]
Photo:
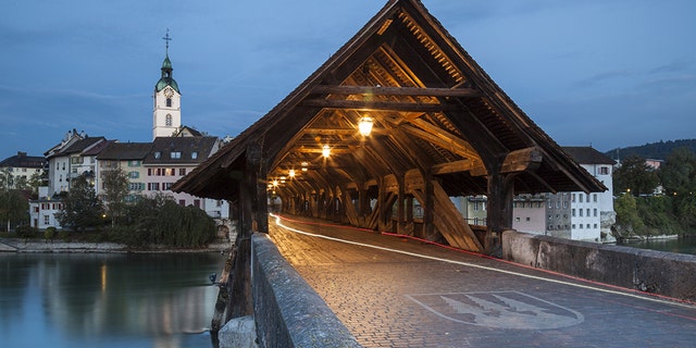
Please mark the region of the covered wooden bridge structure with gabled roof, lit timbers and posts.
[[[514, 194], [606, 188], [420, 1], [390, 0], [173, 189], [235, 203], [240, 265], [248, 262], [251, 231], [268, 232], [274, 197], [284, 213], [489, 252], [512, 226]], [[483, 233], [474, 233], [449, 199], [468, 195], [487, 196]]]

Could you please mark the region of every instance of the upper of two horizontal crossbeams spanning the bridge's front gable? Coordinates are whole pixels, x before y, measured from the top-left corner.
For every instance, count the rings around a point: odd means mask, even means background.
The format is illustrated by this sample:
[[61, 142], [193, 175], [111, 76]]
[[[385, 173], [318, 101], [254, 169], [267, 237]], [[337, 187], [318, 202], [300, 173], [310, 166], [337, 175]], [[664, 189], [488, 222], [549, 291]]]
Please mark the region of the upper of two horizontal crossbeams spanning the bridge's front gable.
[[372, 87], [372, 86], [330, 86], [319, 85], [312, 88], [320, 95], [372, 95], [372, 96], [408, 96], [408, 97], [443, 97], [476, 98], [481, 91], [474, 88], [420, 88], [420, 87]]

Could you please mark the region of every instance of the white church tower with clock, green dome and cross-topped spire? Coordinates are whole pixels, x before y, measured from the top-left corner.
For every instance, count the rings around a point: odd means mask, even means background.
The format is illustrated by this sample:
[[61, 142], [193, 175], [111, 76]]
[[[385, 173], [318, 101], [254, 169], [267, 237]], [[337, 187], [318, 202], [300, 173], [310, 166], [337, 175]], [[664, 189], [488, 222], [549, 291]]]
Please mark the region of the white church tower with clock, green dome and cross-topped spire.
[[166, 41], [166, 54], [162, 62], [162, 77], [154, 85], [152, 140], [157, 137], [171, 137], [182, 126], [182, 95], [176, 80], [172, 77], [169, 30], [163, 39]]

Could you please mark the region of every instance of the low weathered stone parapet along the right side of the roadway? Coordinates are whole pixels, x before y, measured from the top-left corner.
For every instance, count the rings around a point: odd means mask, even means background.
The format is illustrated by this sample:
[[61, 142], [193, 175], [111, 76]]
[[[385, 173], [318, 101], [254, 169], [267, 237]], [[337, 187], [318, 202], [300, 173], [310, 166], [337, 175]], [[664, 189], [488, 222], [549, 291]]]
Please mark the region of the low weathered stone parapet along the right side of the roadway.
[[625, 288], [696, 301], [696, 256], [508, 231], [502, 258]]

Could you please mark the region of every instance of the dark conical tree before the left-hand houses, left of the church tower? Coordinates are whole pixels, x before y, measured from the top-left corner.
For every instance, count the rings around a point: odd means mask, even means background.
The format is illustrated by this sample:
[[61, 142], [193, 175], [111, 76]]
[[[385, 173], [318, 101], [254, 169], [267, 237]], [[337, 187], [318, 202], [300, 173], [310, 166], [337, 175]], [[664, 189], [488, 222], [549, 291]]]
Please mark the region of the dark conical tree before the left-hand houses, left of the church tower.
[[73, 178], [71, 189], [63, 199], [63, 210], [55, 214], [61, 225], [84, 232], [100, 225], [102, 215], [103, 206], [85, 175]]

